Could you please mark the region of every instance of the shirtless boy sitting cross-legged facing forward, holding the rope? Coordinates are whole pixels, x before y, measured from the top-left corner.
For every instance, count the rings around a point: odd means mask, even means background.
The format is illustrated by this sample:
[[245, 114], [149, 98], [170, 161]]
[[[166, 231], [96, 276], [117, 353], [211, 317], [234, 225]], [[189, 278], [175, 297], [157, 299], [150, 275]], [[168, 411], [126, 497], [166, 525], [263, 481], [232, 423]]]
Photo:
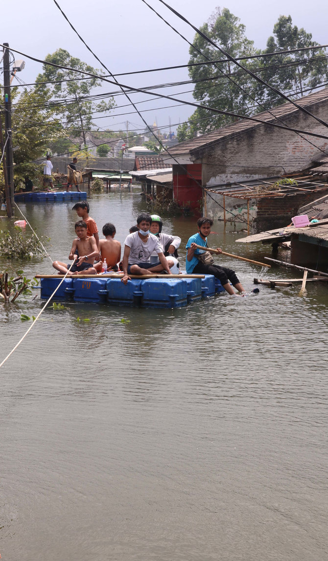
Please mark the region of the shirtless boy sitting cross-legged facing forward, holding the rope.
[[[68, 274], [72, 275], [95, 275], [96, 269], [93, 267], [96, 255], [99, 254], [96, 240], [93, 236], [87, 236], [87, 225], [83, 220], [78, 220], [75, 223], [75, 233], [77, 238], [73, 241], [71, 253], [68, 256], [69, 260], [76, 259], [76, 263]], [[78, 257], [76, 254], [81, 255]], [[66, 265], [62, 261], [54, 261], [53, 267], [57, 269], [60, 274], [66, 274], [71, 265]]]

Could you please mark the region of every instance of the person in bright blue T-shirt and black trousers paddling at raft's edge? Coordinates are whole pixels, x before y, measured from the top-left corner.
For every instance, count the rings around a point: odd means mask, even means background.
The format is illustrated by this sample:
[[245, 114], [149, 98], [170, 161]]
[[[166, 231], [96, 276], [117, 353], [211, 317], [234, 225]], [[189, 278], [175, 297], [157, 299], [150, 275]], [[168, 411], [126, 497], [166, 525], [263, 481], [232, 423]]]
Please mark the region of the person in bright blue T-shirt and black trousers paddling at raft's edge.
[[[207, 236], [210, 234], [210, 229], [213, 226], [213, 220], [210, 218], [199, 218], [197, 220], [197, 226], [199, 232], [191, 236], [187, 242], [186, 249], [188, 250], [186, 256], [186, 272], [187, 273], [200, 273], [207, 275], [214, 275], [218, 278], [224, 289], [228, 294], [236, 294], [233, 288], [229, 284], [230, 282], [238, 290], [238, 292], [245, 292], [242, 284], [239, 282], [235, 271], [228, 269], [227, 267], [222, 267], [220, 265], [205, 264], [202, 263], [202, 255], [205, 254], [205, 250], [198, 249], [198, 245], [202, 247], [207, 247]], [[220, 247], [217, 248], [219, 253], [222, 253]]]

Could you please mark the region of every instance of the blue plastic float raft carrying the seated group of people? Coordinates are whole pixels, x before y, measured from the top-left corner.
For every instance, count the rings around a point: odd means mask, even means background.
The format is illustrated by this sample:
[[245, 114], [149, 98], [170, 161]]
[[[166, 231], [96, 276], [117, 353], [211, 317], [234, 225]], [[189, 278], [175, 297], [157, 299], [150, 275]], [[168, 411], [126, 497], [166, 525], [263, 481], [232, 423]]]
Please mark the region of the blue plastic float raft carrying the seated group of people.
[[[57, 278], [41, 279], [41, 298], [49, 298], [60, 283]], [[205, 278], [133, 278], [123, 284], [119, 278], [66, 278], [53, 300], [107, 302], [118, 306], [181, 308], [224, 288], [213, 275]]]

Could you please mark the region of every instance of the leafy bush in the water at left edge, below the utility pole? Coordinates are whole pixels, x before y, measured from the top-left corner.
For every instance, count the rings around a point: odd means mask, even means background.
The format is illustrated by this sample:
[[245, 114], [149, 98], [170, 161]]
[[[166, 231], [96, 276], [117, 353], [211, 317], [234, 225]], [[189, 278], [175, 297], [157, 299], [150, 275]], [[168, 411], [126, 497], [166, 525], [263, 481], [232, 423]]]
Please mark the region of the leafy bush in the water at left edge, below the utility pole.
[[24, 236], [20, 227], [15, 226], [13, 232], [0, 230], [0, 257], [32, 259], [35, 255], [41, 255], [42, 252], [43, 249], [38, 240], [34, 236]]

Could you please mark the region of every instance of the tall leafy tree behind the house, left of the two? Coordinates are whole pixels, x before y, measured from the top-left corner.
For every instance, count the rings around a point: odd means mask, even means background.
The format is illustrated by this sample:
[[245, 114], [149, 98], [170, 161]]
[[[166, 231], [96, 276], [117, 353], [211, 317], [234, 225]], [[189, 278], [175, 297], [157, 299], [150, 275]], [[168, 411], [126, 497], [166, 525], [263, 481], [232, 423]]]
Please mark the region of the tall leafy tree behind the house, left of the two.
[[[246, 38], [245, 25], [241, 24], [240, 19], [227, 8], [223, 10], [217, 8], [200, 30], [234, 58], [255, 54], [253, 42]], [[245, 114], [245, 106], [249, 103], [249, 99], [239, 86], [244, 89], [249, 88], [250, 77], [239, 71], [236, 65], [228, 61], [226, 56], [199, 34], [195, 35], [193, 45], [211, 61], [222, 60], [215, 65], [190, 67], [189, 76], [195, 84], [194, 98], [208, 107]], [[190, 47], [189, 53], [189, 64], [207, 62], [207, 58], [193, 47]], [[229, 80], [229, 77], [233, 81]], [[204, 133], [227, 125], [233, 119], [206, 109], [197, 109], [189, 120], [190, 125], [193, 120], [198, 120], [194, 129]]]

